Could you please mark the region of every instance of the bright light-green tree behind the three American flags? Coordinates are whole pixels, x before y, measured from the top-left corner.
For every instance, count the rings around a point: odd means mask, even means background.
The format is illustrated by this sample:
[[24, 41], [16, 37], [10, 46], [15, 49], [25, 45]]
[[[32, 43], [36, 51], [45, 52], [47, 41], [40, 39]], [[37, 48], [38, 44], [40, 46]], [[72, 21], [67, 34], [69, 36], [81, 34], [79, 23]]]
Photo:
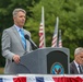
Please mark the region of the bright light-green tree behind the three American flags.
[[[55, 30], [56, 17], [59, 16], [59, 28], [62, 32], [63, 47], [70, 49], [70, 58], [73, 59], [74, 49], [82, 46], [82, 20], [83, 20], [83, 1], [78, 0], [40, 0], [34, 8], [29, 8], [32, 16], [26, 21], [26, 27], [32, 32], [32, 37], [38, 45], [39, 23], [42, 7], [45, 8], [45, 34], [46, 45], [51, 46], [51, 37]], [[36, 37], [35, 37], [36, 36]]]

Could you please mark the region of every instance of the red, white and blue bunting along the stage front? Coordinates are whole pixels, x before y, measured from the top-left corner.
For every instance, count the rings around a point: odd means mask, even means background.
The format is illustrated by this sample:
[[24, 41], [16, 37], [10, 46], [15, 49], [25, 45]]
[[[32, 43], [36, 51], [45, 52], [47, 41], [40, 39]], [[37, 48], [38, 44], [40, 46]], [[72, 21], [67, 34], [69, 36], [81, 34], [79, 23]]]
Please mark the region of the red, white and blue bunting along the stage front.
[[0, 82], [83, 82], [80, 77], [17, 77], [17, 78], [0, 78]]

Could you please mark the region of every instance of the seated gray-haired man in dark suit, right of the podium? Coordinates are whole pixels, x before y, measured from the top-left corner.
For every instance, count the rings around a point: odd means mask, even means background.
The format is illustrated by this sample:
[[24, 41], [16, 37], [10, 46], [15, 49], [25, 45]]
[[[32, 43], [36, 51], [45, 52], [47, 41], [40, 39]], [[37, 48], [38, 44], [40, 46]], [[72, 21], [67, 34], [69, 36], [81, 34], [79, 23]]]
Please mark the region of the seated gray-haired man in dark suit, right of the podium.
[[83, 48], [74, 51], [74, 60], [70, 63], [70, 74], [83, 74]]

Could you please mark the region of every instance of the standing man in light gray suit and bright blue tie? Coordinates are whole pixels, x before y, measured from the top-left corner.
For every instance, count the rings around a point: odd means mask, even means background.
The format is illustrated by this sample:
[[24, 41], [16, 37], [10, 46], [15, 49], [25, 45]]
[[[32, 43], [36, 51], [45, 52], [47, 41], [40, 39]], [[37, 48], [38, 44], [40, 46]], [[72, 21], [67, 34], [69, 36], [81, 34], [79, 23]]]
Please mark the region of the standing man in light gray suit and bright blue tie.
[[19, 63], [21, 56], [32, 50], [31, 43], [24, 37], [26, 34], [31, 37], [31, 33], [23, 28], [25, 19], [26, 11], [15, 9], [13, 11], [14, 25], [4, 30], [2, 34], [2, 56], [5, 58], [4, 73], [7, 74], [14, 74], [13, 62]]

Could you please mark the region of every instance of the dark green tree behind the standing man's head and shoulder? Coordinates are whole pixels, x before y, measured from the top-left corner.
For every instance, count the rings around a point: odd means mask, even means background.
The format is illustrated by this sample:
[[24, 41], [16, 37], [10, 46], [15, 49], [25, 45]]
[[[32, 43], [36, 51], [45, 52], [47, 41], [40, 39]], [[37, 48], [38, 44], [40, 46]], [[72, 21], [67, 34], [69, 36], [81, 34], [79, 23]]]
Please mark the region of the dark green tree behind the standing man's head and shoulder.
[[[12, 20], [12, 11], [15, 8], [23, 8], [26, 10], [27, 15], [31, 16], [29, 7], [33, 7], [33, 3], [38, 3], [39, 0], [0, 0], [0, 38], [2, 36], [2, 32], [4, 28], [8, 28], [13, 25]], [[1, 40], [0, 40], [1, 43]], [[1, 51], [1, 44], [0, 44], [0, 55]], [[4, 66], [4, 58], [2, 55], [0, 56], [0, 67]]]

